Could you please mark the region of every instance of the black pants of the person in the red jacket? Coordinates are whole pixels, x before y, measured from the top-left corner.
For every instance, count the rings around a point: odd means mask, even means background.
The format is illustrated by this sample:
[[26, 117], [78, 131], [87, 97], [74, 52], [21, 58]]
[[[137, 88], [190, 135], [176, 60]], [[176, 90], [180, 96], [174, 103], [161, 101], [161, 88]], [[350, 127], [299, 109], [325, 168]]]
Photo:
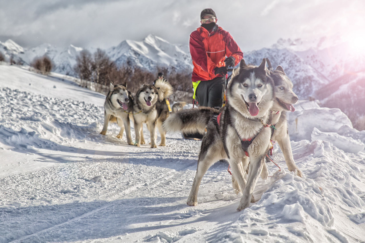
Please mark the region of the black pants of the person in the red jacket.
[[224, 77], [201, 81], [196, 88], [195, 99], [199, 106], [219, 109], [223, 104]]

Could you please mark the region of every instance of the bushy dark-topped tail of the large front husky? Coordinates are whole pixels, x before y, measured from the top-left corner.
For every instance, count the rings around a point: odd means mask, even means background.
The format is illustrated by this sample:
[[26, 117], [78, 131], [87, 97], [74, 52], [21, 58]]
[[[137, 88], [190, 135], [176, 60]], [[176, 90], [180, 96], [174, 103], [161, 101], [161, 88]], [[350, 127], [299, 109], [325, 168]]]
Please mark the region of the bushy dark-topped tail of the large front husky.
[[211, 107], [198, 107], [176, 111], [163, 124], [166, 132], [204, 133], [210, 118], [219, 111]]

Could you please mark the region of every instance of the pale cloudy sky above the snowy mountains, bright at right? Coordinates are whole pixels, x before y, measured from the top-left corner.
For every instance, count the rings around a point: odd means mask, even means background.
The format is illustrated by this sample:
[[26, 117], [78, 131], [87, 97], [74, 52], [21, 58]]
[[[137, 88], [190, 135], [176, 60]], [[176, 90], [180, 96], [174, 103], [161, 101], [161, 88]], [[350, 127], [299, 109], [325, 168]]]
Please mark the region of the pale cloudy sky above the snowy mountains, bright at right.
[[279, 38], [358, 39], [365, 30], [364, 0], [0, 0], [0, 41], [109, 48], [154, 34], [188, 44], [204, 8], [214, 9], [243, 51]]

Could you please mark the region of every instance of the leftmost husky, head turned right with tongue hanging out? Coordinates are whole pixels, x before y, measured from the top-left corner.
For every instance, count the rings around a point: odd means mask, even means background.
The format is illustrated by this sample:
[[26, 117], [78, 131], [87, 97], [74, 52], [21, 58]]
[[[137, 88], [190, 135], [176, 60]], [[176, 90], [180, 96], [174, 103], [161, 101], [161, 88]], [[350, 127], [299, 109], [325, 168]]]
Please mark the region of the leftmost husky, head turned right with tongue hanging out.
[[133, 97], [126, 85], [114, 85], [110, 83], [110, 90], [105, 98], [104, 103], [104, 126], [100, 134], [107, 133], [109, 121], [117, 122], [120, 127], [117, 138], [123, 137], [124, 128], [126, 128], [126, 137], [129, 145], [133, 145], [131, 138], [131, 125], [128, 113], [133, 110]]

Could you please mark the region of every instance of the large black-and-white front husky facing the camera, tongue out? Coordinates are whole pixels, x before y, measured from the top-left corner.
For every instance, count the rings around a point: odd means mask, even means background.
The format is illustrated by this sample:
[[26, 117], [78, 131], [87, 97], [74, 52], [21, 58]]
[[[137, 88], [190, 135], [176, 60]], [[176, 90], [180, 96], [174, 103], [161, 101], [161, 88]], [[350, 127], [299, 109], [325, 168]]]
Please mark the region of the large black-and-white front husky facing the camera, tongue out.
[[[207, 128], [188, 205], [197, 205], [199, 185], [208, 168], [218, 160], [227, 159], [239, 187], [243, 188], [237, 210], [249, 206], [271, 135], [267, 123], [274, 85], [266, 75], [265, 66], [265, 59], [259, 67], [247, 66], [242, 59], [228, 83], [227, 103], [219, 111], [208, 107], [180, 110], [165, 121], [167, 131], [203, 133]], [[246, 180], [243, 171], [249, 162]]]

